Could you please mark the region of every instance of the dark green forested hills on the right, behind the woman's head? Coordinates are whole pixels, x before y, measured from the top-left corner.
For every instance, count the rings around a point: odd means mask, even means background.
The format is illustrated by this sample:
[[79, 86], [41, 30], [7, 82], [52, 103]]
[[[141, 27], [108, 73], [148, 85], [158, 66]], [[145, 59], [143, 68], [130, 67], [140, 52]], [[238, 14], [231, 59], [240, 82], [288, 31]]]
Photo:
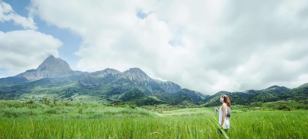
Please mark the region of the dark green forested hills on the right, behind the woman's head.
[[[271, 104], [270, 102], [277, 103], [279, 100], [294, 100], [294, 103], [282, 101], [290, 103], [288, 104], [289, 106], [293, 104], [297, 105], [299, 101], [305, 101], [308, 99], [308, 84], [301, 85], [294, 89], [274, 85], [263, 90], [247, 90], [243, 92], [220, 91], [203, 100], [201, 105], [204, 107], [219, 106], [221, 105], [219, 99], [223, 94], [226, 94], [230, 98], [231, 105], [255, 105], [259, 107], [260, 104], [263, 103], [264, 106], [273, 106], [275, 104]], [[276, 105], [279, 106], [280, 104], [277, 103]]]

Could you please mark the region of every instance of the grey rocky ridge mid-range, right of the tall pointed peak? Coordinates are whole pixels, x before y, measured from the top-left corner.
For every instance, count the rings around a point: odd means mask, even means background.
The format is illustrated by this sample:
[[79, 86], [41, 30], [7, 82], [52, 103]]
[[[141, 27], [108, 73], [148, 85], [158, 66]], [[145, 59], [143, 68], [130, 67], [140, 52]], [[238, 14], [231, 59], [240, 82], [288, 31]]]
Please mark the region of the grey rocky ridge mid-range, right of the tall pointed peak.
[[152, 79], [139, 68], [130, 68], [124, 72], [107, 68], [90, 73], [90, 75], [83, 77], [79, 81], [86, 86], [106, 85], [110, 83], [112, 86], [122, 89], [136, 85], [146, 90], [149, 94], [152, 94], [155, 90], [162, 90], [171, 95], [181, 90], [180, 85], [172, 81]]

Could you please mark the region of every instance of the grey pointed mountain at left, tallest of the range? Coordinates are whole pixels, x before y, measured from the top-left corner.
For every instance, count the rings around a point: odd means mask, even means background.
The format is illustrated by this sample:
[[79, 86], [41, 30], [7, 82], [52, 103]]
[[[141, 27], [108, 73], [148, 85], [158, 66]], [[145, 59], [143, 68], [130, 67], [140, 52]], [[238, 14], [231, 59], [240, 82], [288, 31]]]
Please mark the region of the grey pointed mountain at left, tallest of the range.
[[15, 77], [24, 77], [27, 80], [35, 81], [43, 78], [62, 78], [80, 74], [83, 74], [83, 72], [73, 71], [67, 62], [50, 55], [38, 68], [27, 70]]

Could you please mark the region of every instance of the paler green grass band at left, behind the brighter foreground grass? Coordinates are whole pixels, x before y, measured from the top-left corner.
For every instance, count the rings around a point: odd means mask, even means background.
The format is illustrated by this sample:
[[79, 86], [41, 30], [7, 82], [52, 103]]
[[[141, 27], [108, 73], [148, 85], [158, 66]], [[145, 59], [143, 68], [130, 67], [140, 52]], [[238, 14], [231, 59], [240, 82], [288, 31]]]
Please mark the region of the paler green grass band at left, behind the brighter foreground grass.
[[151, 117], [156, 114], [142, 108], [129, 105], [119, 107], [105, 106], [98, 103], [67, 103], [56, 104], [19, 101], [0, 101], [1, 118], [79, 118], [93, 119], [106, 117]]

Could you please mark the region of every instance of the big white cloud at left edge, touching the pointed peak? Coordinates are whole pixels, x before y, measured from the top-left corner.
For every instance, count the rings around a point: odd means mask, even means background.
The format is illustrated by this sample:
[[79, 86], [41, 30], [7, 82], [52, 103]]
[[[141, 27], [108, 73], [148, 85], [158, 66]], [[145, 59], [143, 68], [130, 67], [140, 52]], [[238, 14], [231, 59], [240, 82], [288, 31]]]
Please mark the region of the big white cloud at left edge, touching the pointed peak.
[[21, 73], [36, 69], [50, 54], [58, 56], [59, 39], [34, 30], [0, 31], [0, 68], [2, 73]]

